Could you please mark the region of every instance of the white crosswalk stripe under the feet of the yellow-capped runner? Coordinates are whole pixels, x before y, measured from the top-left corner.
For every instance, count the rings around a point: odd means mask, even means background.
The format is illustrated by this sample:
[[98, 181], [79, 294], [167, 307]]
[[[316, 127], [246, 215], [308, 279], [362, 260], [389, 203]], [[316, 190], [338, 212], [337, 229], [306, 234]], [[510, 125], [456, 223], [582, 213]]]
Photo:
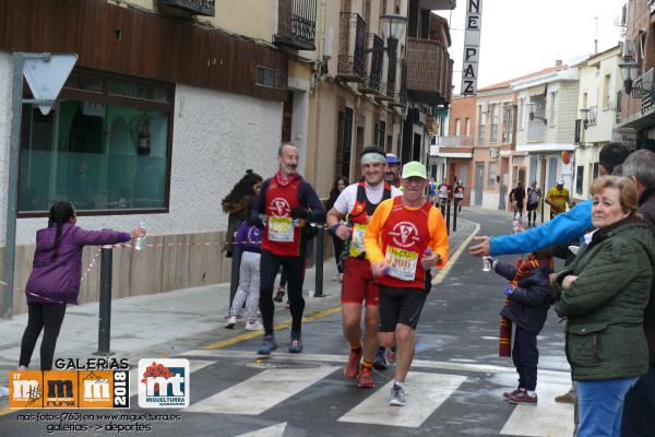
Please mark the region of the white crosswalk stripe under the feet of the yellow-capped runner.
[[390, 381], [338, 422], [418, 428], [465, 380], [462, 375], [410, 371], [405, 381], [409, 394], [405, 406], [389, 405]]

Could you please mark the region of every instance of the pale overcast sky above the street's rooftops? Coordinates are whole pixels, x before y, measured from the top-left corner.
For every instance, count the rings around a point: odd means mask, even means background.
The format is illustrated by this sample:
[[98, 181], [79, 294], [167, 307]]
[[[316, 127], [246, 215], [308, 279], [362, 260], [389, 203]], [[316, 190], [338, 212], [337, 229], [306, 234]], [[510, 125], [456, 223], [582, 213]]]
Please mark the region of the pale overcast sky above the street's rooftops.
[[[594, 52], [598, 17], [598, 51], [620, 37], [615, 21], [628, 0], [483, 0], [483, 34], [478, 88]], [[462, 83], [464, 21], [467, 0], [453, 11], [436, 11], [450, 19], [455, 94]]]

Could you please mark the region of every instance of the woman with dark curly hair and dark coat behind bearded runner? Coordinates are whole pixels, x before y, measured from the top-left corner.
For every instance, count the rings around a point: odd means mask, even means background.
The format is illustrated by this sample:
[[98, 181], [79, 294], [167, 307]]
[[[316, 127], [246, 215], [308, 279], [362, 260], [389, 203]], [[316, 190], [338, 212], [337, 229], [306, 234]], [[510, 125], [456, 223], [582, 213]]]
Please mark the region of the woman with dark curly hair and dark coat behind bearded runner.
[[246, 170], [246, 175], [234, 186], [229, 194], [223, 199], [223, 211], [229, 214], [227, 217], [225, 246], [223, 246], [223, 251], [227, 258], [231, 258], [233, 256], [235, 233], [241, 222], [246, 220], [250, 205], [259, 196], [262, 189], [262, 177], [249, 168]]

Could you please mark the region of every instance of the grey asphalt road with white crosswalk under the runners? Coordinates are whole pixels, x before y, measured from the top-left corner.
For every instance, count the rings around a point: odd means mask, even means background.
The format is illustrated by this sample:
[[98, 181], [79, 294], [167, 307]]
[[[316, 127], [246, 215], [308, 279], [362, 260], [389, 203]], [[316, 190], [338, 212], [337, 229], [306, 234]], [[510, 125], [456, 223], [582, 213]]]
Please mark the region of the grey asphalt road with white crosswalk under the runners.
[[[468, 210], [462, 216], [479, 223], [480, 235], [504, 234], [511, 227], [509, 214]], [[514, 261], [516, 257], [503, 259]], [[483, 272], [481, 265], [480, 259], [463, 251], [442, 283], [432, 288], [417, 329], [415, 366], [407, 379], [404, 408], [386, 404], [393, 367], [374, 373], [374, 389], [359, 389], [343, 378], [347, 344], [341, 332], [341, 312], [326, 311], [305, 323], [301, 355], [286, 353], [288, 330], [276, 333], [281, 349], [263, 361], [254, 354], [259, 339], [221, 349], [198, 347], [199, 339], [193, 339], [190, 350], [180, 355], [191, 363], [191, 405], [170, 411], [180, 415], [179, 421], [98, 416], [88, 421], [91, 429], [48, 433], [45, 422], [27, 425], [10, 414], [0, 417], [0, 434], [118, 434], [105, 427], [112, 423], [126, 426], [120, 434], [170, 437], [571, 435], [571, 405], [552, 401], [569, 385], [562, 326], [553, 311], [538, 341], [539, 404], [515, 406], [502, 400], [502, 392], [516, 383], [511, 359], [498, 357], [499, 310], [507, 281]], [[205, 346], [212, 343], [211, 335], [202, 340]], [[130, 414], [168, 413], [136, 404], [132, 397]], [[150, 432], [135, 430], [138, 422], [150, 425]]]

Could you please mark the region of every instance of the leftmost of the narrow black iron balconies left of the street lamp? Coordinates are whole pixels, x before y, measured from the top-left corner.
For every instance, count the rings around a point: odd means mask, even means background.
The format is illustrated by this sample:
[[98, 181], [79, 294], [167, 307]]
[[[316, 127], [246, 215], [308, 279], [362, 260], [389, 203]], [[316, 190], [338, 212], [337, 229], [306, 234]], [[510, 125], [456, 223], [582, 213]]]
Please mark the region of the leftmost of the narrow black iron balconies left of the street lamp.
[[341, 13], [337, 74], [346, 82], [364, 82], [366, 22], [361, 15]]

